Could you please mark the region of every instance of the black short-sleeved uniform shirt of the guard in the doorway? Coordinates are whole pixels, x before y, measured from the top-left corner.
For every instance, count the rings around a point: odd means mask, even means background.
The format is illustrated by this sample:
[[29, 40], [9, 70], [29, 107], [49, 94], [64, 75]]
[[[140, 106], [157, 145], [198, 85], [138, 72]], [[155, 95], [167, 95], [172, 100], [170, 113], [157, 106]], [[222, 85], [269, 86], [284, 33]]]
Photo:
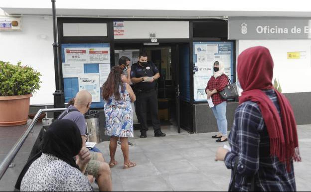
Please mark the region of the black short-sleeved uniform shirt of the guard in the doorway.
[[[159, 69], [155, 64], [147, 62], [147, 64], [142, 67], [138, 63], [134, 63], [131, 68], [131, 78], [140, 78], [140, 77], [152, 77], [159, 73]], [[137, 90], [148, 91], [156, 87], [156, 81], [152, 83], [149, 82], [139, 82], [135, 84]]]

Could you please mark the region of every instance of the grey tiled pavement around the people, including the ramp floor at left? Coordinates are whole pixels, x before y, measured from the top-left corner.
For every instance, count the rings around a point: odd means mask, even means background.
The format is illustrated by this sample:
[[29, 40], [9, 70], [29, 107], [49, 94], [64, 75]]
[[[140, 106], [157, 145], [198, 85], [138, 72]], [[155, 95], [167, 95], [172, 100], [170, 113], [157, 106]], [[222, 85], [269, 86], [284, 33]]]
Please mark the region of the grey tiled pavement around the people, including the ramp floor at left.
[[[0, 181], [0, 191], [12, 191], [19, 172], [29, 156], [33, 143], [41, 129], [37, 124], [25, 145], [17, 154], [16, 167], [9, 168]], [[25, 130], [23, 126], [0, 128], [0, 161], [12, 148]], [[295, 163], [295, 175], [298, 191], [311, 190], [311, 125], [300, 125], [299, 144], [303, 162]], [[114, 191], [227, 191], [230, 170], [223, 162], [215, 162], [216, 149], [223, 145], [211, 138], [214, 133], [178, 134], [174, 126], [166, 126], [163, 132], [167, 137], [155, 138], [148, 131], [148, 138], [140, 139], [139, 131], [130, 139], [130, 158], [137, 166], [123, 170], [123, 157], [120, 147], [116, 160], [119, 164], [112, 168]], [[109, 142], [97, 145], [109, 161]]]

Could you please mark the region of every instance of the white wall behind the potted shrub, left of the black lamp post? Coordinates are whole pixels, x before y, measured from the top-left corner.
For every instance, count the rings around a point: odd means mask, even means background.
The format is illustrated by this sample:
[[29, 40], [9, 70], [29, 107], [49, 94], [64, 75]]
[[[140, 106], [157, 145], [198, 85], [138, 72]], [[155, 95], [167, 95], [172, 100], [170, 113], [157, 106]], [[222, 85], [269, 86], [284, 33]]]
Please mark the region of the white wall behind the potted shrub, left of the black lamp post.
[[[41, 35], [47, 38], [42, 39]], [[52, 44], [52, 19], [23, 17], [22, 31], [0, 31], [0, 60], [14, 64], [21, 61], [42, 74], [41, 88], [30, 99], [30, 104], [53, 103], [55, 74]]]

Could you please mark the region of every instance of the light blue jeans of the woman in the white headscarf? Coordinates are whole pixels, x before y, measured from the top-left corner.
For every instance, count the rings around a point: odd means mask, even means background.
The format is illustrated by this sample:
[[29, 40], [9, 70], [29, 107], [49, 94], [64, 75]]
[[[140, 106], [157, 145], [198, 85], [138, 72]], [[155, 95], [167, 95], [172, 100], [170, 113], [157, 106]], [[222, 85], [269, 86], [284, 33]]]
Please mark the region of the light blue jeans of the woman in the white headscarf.
[[227, 136], [228, 131], [226, 108], [227, 108], [227, 101], [224, 101], [219, 105], [216, 105], [211, 108], [217, 120], [218, 130], [223, 136]]

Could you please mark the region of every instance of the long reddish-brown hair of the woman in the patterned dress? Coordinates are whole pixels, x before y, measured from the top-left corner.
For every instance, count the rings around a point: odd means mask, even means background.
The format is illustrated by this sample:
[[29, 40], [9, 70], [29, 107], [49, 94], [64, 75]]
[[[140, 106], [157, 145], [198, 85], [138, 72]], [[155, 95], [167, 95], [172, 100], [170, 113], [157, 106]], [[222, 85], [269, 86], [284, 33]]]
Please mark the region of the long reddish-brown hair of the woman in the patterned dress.
[[115, 66], [111, 69], [107, 81], [103, 84], [102, 87], [102, 96], [105, 101], [109, 100], [109, 97], [114, 95], [116, 100], [120, 99], [119, 88], [121, 86], [122, 91], [125, 87], [123, 86], [121, 74], [123, 73], [123, 67]]

